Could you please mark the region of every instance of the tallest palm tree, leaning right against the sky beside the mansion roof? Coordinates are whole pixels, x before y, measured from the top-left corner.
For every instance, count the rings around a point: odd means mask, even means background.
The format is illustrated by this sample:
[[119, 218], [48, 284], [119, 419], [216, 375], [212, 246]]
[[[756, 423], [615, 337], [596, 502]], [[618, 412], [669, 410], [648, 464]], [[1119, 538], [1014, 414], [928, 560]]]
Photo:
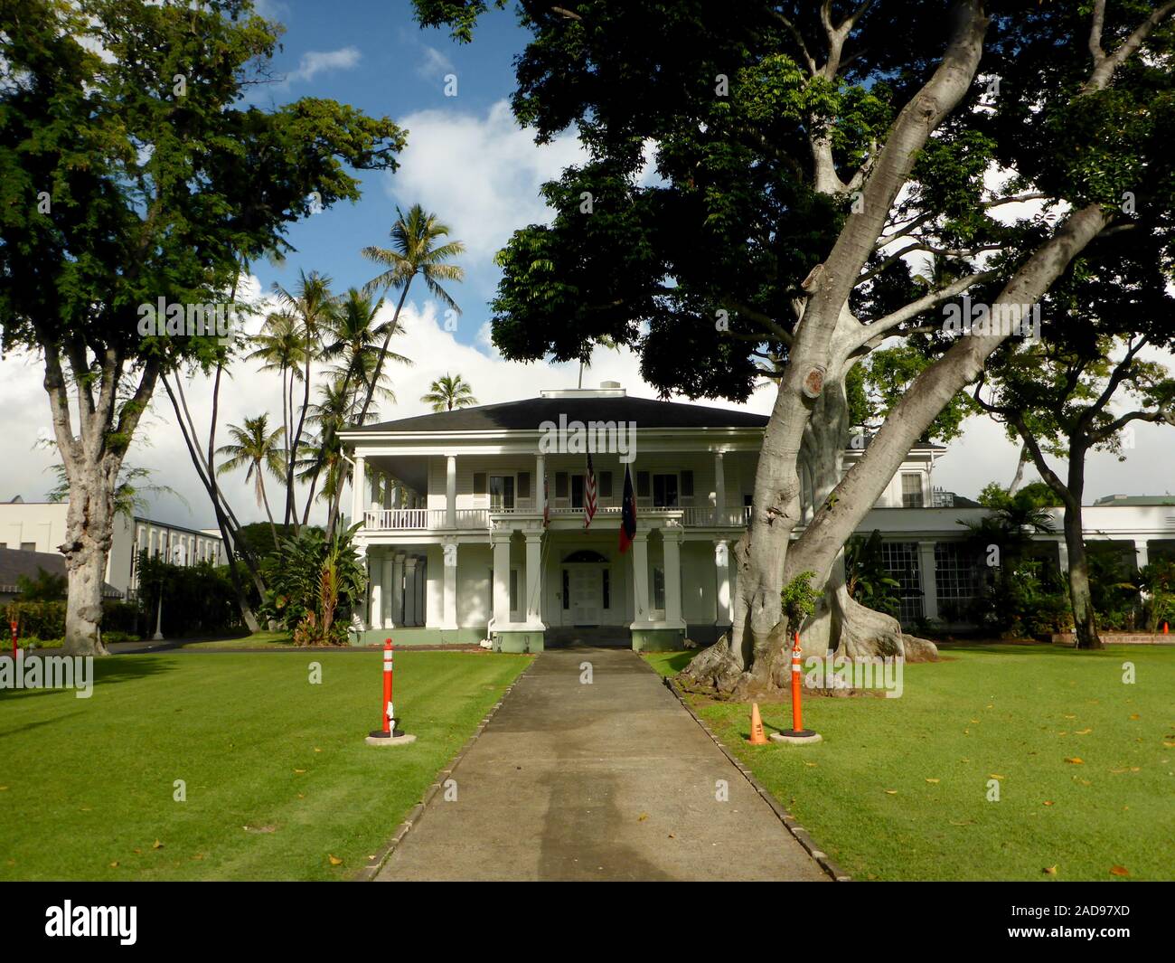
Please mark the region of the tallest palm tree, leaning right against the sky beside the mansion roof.
[[388, 342], [391, 340], [391, 335], [400, 330], [400, 312], [404, 307], [412, 280], [419, 275], [434, 297], [448, 306], [450, 310], [461, 313], [457, 302], [441, 287], [442, 281], [462, 281], [465, 277], [463, 268], [445, 263], [450, 258], [462, 254], [465, 250], [465, 245], [461, 241], [437, 243], [437, 241], [448, 238], [449, 232], [448, 225], [441, 223], [435, 214], [425, 214], [424, 208], [418, 203], [412, 205], [407, 215], [397, 207], [396, 222], [391, 226], [391, 247], [363, 248], [364, 258], [387, 268], [368, 281], [364, 290], [400, 288], [400, 300], [396, 303], [396, 313], [391, 316], [391, 326], [384, 333], [383, 346], [380, 348], [375, 370], [368, 383], [367, 397], [360, 409], [361, 424], [365, 422], [368, 408], [371, 407], [371, 399], [380, 383], [383, 362], [388, 355]]

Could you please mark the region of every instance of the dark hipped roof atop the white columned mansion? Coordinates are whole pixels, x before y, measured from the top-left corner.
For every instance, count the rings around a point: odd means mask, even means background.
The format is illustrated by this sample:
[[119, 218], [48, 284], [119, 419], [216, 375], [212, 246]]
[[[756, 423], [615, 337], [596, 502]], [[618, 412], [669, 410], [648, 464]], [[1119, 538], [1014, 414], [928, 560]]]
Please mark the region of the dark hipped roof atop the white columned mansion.
[[765, 428], [766, 415], [649, 397], [529, 397], [416, 415], [352, 432], [536, 432], [544, 421], [634, 421], [637, 428]]

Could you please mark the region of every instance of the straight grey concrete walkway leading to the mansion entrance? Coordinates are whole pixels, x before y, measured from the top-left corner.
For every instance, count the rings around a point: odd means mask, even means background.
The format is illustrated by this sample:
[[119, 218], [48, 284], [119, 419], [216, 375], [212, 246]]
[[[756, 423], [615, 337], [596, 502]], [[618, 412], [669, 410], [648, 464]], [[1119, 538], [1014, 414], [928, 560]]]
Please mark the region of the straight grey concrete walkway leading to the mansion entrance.
[[452, 777], [378, 880], [828, 878], [631, 650], [540, 655]]

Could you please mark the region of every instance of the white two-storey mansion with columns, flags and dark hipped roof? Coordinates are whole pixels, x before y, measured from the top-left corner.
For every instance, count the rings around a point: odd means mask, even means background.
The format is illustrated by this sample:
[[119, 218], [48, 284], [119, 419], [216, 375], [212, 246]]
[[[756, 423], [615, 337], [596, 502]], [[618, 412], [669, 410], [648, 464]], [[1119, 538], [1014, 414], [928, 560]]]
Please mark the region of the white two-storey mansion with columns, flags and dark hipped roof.
[[[592, 454], [597, 511], [585, 529], [588, 456], [549, 441], [552, 426], [590, 422], [618, 427], [622, 444]], [[713, 641], [731, 623], [730, 549], [746, 524], [766, 422], [732, 408], [629, 397], [605, 382], [343, 433], [363, 480], [352, 517], [362, 520], [358, 548], [370, 575], [355, 641], [490, 637], [508, 651], [576, 638], [636, 649]], [[985, 509], [959, 507], [933, 488], [944, 450], [911, 450], [859, 529], [885, 540], [904, 621], [936, 618], [971, 591], [959, 522]], [[846, 462], [859, 455], [847, 450]], [[637, 526], [622, 553], [622, 459], [630, 457]], [[1087, 537], [1119, 540], [1140, 563], [1148, 549], [1175, 549], [1175, 500], [1092, 507], [1086, 519]], [[1046, 540], [1063, 566], [1060, 530]]]

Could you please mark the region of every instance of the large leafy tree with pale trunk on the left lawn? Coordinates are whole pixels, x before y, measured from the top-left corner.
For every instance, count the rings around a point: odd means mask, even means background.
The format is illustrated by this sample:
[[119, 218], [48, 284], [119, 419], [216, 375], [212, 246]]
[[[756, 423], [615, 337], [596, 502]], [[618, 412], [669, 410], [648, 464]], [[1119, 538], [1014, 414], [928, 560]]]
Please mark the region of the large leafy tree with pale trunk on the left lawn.
[[127, 449], [162, 376], [226, 352], [150, 309], [229, 302], [242, 259], [354, 200], [343, 165], [392, 167], [404, 138], [328, 100], [242, 106], [278, 36], [248, 0], [8, 0], [0, 35], [2, 345], [43, 360], [69, 479], [65, 650], [101, 653]]

